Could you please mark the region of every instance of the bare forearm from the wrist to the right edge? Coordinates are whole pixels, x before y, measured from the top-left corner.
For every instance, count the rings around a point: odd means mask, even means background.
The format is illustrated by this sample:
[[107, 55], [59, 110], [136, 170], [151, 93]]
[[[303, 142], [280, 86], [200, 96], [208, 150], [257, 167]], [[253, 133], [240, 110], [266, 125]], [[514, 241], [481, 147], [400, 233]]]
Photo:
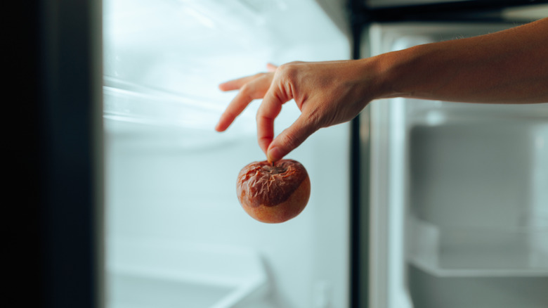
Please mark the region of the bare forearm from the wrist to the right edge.
[[548, 102], [548, 18], [469, 39], [378, 56], [384, 97]]

